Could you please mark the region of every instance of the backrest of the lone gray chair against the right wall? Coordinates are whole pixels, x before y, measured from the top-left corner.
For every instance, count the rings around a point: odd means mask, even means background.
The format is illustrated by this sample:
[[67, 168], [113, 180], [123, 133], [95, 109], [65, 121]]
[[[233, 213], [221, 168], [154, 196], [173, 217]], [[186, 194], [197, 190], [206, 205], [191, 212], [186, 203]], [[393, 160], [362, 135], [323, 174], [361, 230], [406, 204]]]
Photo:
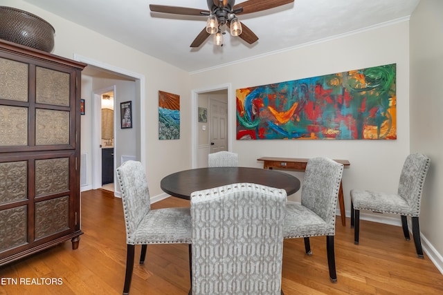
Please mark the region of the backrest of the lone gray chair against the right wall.
[[423, 185], [431, 160], [421, 153], [412, 153], [401, 169], [398, 195], [408, 202], [410, 213], [419, 216]]

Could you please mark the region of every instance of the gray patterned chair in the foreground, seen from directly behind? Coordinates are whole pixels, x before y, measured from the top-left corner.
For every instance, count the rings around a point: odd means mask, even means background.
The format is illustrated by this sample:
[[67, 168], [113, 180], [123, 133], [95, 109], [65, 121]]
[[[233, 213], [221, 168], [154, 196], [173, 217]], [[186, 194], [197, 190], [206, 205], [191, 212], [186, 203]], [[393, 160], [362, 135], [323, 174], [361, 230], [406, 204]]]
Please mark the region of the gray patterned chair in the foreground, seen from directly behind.
[[192, 193], [192, 294], [282, 294], [286, 202], [251, 183]]

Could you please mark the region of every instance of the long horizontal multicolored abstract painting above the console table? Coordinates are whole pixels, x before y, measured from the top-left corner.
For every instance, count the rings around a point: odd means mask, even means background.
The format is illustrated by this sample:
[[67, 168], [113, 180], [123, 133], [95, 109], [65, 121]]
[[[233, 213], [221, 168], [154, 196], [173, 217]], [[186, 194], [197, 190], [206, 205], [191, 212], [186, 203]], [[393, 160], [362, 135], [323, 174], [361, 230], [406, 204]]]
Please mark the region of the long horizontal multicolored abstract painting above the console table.
[[396, 64], [237, 89], [237, 140], [395, 140]]

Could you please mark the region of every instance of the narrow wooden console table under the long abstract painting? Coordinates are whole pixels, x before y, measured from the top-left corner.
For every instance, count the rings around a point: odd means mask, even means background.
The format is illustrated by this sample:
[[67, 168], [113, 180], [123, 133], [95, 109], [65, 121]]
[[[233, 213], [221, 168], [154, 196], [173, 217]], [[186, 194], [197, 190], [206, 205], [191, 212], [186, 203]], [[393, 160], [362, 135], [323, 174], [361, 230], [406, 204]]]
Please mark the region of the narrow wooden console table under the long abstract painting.
[[[290, 170], [300, 170], [305, 171], [307, 161], [309, 159], [303, 158], [277, 158], [277, 157], [262, 157], [258, 158], [258, 161], [263, 161], [264, 169], [290, 169]], [[334, 160], [344, 166], [349, 166], [350, 162], [348, 160]], [[346, 214], [345, 214], [345, 201], [343, 200], [343, 185], [340, 182], [340, 190], [338, 191], [338, 203], [340, 204], [340, 214], [341, 214], [341, 224], [343, 227], [346, 225]]]

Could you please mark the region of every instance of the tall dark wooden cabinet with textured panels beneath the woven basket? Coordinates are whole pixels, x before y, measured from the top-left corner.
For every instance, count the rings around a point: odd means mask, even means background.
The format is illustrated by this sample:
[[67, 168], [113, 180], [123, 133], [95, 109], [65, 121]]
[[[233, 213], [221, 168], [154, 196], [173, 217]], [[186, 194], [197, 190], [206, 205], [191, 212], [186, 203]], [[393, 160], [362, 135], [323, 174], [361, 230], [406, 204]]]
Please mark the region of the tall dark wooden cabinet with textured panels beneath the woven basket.
[[84, 66], [0, 39], [0, 265], [78, 247]]

